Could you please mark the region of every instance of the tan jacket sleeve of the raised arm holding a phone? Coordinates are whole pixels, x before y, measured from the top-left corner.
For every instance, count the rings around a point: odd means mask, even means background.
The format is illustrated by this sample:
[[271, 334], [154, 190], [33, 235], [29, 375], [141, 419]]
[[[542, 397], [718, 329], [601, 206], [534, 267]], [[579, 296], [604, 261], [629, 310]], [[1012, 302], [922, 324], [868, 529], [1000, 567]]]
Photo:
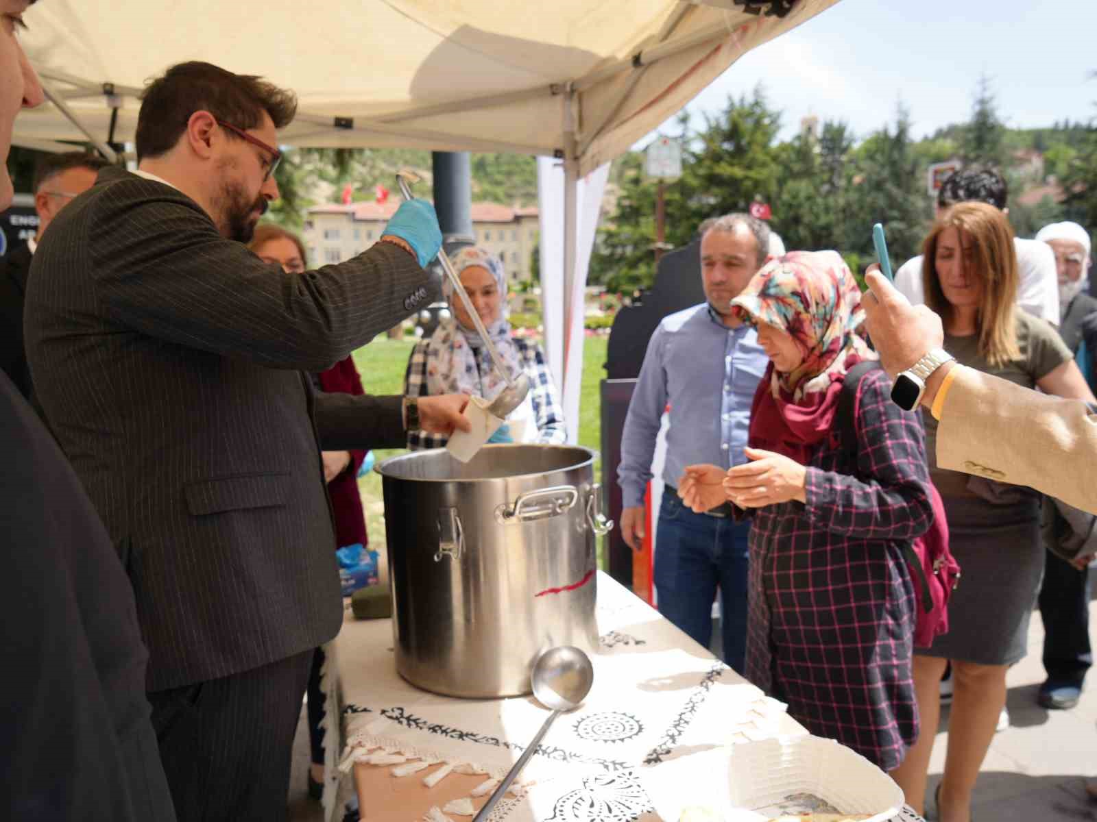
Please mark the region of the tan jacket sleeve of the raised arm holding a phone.
[[937, 429], [937, 465], [1097, 513], [1097, 411], [957, 366]]

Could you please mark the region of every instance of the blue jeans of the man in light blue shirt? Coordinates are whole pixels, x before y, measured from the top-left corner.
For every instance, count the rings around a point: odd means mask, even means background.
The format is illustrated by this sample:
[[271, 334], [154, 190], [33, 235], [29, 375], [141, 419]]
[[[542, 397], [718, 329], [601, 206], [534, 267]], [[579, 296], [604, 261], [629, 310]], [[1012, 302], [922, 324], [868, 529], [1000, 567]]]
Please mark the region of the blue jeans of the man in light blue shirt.
[[749, 523], [694, 514], [663, 492], [655, 547], [659, 613], [704, 648], [712, 639], [712, 602], [720, 586], [724, 662], [745, 674]]

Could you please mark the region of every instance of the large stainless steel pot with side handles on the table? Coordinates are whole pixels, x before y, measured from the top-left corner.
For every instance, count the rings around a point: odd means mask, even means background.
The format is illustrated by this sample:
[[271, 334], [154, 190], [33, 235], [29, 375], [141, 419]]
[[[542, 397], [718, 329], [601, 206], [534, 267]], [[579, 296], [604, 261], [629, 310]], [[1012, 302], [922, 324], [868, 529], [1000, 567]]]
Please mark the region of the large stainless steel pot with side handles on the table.
[[396, 670], [427, 690], [531, 693], [553, 646], [595, 651], [593, 453], [488, 445], [468, 463], [445, 449], [378, 465], [393, 590]]

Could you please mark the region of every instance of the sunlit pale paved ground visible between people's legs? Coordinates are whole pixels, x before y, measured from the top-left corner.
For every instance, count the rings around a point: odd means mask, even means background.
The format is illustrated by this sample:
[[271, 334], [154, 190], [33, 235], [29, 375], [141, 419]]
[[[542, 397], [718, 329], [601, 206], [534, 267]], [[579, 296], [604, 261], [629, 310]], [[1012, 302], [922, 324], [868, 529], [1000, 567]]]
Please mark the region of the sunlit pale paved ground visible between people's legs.
[[[1089, 632], [1097, 638], [1097, 604], [1090, 606]], [[717, 635], [719, 636], [719, 632]], [[1010, 727], [995, 738], [975, 788], [973, 818], [979, 822], [1097, 822], [1097, 802], [1086, 799], [1084, 777], [1097, 777], [1097, 673], [1081, 704], [1048, 711], [1036, 704], [1043, 682], [1040, 651], [1043, 626], [1032, 616], [1029, 654], [1009, 671]], [[941, 718], [930, 764], [930, 796], [945, 765], [948, 713]], [[305, 796], [308, 740], [302, 711], [290, 788], [292, 822], [320, 822], [318, 802]], [[932, 811], [931, 800], [927, 811]], [[337, 820], [338, 822], [338, 820]], [[408, 822], [412, 822], [408, 820]]]

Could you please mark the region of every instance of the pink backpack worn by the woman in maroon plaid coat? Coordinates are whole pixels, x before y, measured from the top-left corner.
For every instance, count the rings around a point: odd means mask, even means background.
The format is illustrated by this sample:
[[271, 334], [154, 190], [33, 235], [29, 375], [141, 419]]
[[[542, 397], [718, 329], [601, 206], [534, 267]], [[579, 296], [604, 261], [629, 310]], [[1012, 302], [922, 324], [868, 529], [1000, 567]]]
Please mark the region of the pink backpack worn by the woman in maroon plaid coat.
[[[864, 359], [846, 374], [838, 400], [835, 421], [840, 433], [841, 447], [857, 465], [857, 420], [861, 403], [861, 378], [880, 367], [875, 359]], [[911, 567], [914, 594], [921, 607], [917, 612], [914, 628], [914, 644], [929, 648], [934, 638], [949, 630], [949, 597], [960, 581], [960, 563], [949, 551], [949, 525], [945, 516], [945, 503], [934, 483], [929, 484], [929, 502], [934, 509], [934, 522], [929, 530], [914, 543], [904, 543], [901, 548]]]

